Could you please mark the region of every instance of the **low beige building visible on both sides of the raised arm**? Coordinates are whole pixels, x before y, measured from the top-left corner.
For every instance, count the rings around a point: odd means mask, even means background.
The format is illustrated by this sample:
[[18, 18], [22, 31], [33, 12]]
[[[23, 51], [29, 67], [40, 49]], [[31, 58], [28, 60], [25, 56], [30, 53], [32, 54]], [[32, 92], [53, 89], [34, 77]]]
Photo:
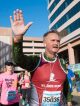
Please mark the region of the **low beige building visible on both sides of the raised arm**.
[[[0, 70], [6, 60], [12, 60], [12, 32], [11, 28], [0, 27]], [[39, 37], [23, 37], [23, 53], [26, 55], [39, 55], [44, 52], [43, 39]], [[16, 67], [16, 70], [22, 70]]]

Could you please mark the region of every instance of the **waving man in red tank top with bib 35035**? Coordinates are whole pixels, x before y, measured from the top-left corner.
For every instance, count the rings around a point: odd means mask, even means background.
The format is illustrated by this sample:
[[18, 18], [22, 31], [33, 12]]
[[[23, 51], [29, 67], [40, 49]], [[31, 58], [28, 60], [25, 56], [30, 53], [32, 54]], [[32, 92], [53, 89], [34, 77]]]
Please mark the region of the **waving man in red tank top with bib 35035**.
[[[30, 106], [65, 106], [64, 91], [67, 101], [71, 101], [66, 74], [66, 64], [57, 52], [60, 46], [59, 33], [49, 31], [43, 36], [45, 52], [41, 56], [26, 56], [22, 52], [22, 38], [32, 23], [24, 26], [21, 10], [10, 17], [13, 31], [13, 58], [16, 64], [31, 72]], [[68, 105], [69, 106], [69, 105]]]

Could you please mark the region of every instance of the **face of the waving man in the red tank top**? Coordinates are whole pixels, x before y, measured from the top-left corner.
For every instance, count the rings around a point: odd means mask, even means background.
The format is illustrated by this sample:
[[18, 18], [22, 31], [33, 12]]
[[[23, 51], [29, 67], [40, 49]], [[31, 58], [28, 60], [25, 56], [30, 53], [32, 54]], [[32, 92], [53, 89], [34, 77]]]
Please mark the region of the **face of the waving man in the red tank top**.
[[60, 38], [56, 33], [49, 33], [44, 40], [45, 49], [49, 53], [57, 53], [60, 45]]

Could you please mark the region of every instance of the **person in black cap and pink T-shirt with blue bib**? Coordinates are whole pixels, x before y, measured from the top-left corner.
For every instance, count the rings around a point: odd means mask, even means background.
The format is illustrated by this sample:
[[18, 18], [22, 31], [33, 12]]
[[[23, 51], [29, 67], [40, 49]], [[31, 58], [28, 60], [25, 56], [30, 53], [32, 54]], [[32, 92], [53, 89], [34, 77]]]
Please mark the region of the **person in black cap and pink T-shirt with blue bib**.
[[19, 106], [18, 76], [14, 73], [14, 63], [5, 62], [6, 71], [0, 74], [1, 106]]

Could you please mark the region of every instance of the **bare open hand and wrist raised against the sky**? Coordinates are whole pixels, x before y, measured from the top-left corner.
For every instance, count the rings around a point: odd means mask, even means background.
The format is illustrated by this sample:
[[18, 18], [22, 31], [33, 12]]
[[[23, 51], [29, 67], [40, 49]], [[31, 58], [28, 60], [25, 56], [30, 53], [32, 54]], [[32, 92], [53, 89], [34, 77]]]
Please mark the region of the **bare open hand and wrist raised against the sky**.
[[23, 13], [22, 10], [19, 9], [14, 11], [13, 19], [12, 16], [10, 16], [10, 22], [11, 22], [12, 32], [14, 34], [15, 43], [19, 42], [22, 39], [25, 32], [32, 25], [32, 22], [29, 22], [27, 25], [24, 25]]

